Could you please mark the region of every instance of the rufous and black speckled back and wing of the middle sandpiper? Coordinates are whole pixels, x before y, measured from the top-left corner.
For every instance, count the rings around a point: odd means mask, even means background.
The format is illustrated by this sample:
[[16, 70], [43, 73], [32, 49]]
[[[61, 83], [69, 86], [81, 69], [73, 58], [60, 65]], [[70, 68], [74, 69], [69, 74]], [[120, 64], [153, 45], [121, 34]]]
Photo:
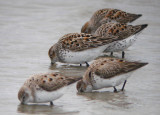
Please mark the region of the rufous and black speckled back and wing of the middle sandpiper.
[[60, 38], [58, 44], [64, 49], [71, 51], [83, 51], [90, 48], [96, 48], [113, 41], [120, 40], [118, 37], [107, 35], [105, 38], [100, 36], [93, 36], [85, 33], [70, 33]]

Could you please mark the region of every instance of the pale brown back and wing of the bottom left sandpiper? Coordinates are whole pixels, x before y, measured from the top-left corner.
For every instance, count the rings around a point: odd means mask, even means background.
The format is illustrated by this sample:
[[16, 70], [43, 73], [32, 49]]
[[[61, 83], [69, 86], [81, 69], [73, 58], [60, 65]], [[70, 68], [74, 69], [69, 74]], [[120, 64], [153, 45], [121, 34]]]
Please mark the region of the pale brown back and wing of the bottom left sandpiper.
[[46, 91], [54, 91], [63, 86], [76, 82], [80, 78], [67, 77], [59, 73], [37, 74], [31, 76], [24, 85], [35, 89], [43, 89]]

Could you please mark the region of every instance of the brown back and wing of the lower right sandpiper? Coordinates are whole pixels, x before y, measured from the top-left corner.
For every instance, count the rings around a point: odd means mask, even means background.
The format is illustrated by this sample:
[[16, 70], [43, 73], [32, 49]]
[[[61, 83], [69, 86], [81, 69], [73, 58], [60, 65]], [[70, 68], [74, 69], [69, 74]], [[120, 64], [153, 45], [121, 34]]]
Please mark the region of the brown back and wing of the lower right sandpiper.
[[148, 63], [129, 62], [118, 58], [99, 58], [89, 66], [84, 76], [85, 79], [90, 79], [89, 73], [91, 72], [91, 76], [94, 73], [101, 78], [108, 79], [116, 75], [134, 71], [146, 64]]

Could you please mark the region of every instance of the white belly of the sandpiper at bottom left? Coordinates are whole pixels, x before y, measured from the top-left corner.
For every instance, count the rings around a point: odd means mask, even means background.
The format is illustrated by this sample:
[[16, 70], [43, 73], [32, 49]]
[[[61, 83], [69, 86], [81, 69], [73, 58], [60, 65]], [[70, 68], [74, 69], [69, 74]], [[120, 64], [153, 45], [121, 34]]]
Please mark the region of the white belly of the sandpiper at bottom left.
[[45, 90], [36, 90], [35, 93], [35, 103], [45, 103], [54, 101], [60, 98], [64, 93], [64, 88], [58, 89], [56, 91], [45, 91]]

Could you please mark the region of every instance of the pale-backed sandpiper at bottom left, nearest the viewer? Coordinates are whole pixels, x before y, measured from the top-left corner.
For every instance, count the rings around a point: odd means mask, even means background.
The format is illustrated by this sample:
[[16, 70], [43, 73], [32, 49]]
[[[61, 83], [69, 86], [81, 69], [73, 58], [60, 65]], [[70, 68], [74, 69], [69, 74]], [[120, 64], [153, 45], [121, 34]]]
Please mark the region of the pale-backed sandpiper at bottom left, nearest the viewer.
[[31, 76], [25, 81], [18, 92], [22, 104], [50, 102], [60, 98], [65, 92], [64, 87], [81, 77], [66, 77], [59, 73], [46, 73]]

